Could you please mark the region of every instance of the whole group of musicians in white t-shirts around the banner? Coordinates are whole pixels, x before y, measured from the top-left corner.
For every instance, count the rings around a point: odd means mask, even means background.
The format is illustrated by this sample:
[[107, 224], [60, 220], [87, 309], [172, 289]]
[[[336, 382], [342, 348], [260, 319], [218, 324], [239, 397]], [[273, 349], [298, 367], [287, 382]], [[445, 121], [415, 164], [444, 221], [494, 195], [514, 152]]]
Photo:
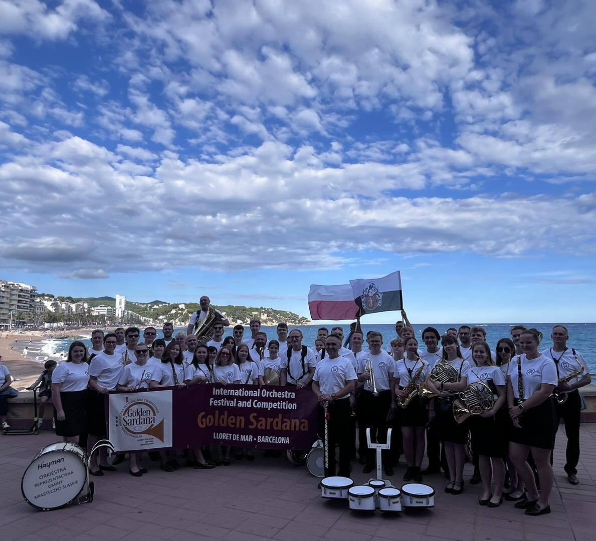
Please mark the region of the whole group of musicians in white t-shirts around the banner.
[[[375, 455], [367, 447], [366, 430], [373, 441], [383, 442], [391, 427], [392, 446], [383, 451], [386, 475], [394, 474], [403, 453], [404, 481], [420, 482], [442, 469], [445, 492], [458, 495], [464, 490], [464, 463], [471, 460], [474, 475], [468, 482], [482, 483], [480, 505], [497, 507], [505, 499], [528, 515], [541, 515], [550, 512], [552, 450], [563, 419], [564, 470], [571, 484], [579, 483], [578, 388], [589, 384], [590, 376], [581, 353], [567, 346], [563, 325], [552, 329], [552, 346], [542, 343], [538, 330], [516, 326], [492, 351], [485, 330], [468, 325], [443, 336], [427, 327], [419, 342], [403, 313], [405, 324], [396, 323], [389, 343], [380, 332], [364, 335], [353, 324], [345, 338], [341, 327], [320, 328], [311, 349], [303, 346], [299, 329], [280, 323], [277, 337], [268, 337], [257, 319], [250, 322], [250, 337], [236, 325], [224, 338], [229, 322], [221, 315], [204, 343], [193, 331], [210, 315], [209, 299], [201, 297], [201, 310], [187, 332], [176, 336], [172, 324], [165, 324], [159, 339], [154, 327], [145, 328], [142, 337], [129, 327], [94, 331], [89, 350], [73, 342], [67, 361], [51, 371], [56, 433], [75, 443], [88, 435], [91, 448], [105, 436], [104, 395], [112, 390], [294, 385], [312, 388], [321, 412], [328, 413], [326, 475], [350, 477], [356, 455], [363, 471], [372, 471]], [[190, 450], [185, 465], [229, 465], [232, 452], [235, 458], [254, 459], [252, 449], [210, 446]], [[159, 455], [163, 470], [180, 467], [175, 452]], [[421, 470], [424, 455], [428, 466]], [[114, 464], [122, 460], [119, 456]], [[91, 463], [94, 475], [113, 470], [101, 452]], [[129, 472], [137, 477], [147, 472], [140, 453], [130, 453]]]

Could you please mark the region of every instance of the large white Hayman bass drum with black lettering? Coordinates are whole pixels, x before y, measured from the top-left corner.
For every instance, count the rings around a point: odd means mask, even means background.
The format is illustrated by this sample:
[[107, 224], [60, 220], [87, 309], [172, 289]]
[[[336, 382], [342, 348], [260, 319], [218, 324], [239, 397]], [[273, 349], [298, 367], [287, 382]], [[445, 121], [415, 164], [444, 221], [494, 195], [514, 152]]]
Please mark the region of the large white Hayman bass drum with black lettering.
[[42, 511], [72, 502], [85, 489], [87, 455], [69, 442], [43, 447], [21, 478], [21, 492], [29, 505]]

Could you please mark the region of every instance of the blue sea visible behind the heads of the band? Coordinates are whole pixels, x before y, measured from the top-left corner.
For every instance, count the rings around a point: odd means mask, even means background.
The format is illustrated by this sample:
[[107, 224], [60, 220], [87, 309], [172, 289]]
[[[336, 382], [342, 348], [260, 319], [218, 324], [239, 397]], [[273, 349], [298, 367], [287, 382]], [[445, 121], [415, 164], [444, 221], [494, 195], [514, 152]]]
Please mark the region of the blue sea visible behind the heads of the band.
[[[541, 343], [541, 351], [548, 350], [552, 346], [552, 341], [550, 338], [552, 327], [558, 325], [559, 323], [526, 323], [523, 324], [526, 328], [536, 328], [544, 334], [544, 338]], [[413, 324], [412, 327], [416, 333], [416, 338], [420, 343], [421, 334], [424, 328], [426, 327], [434, 327], [439, 331], [441, 335], [445, 334], [445, 331], [450, 327], [455, 327], [456, 329], [459, 328], [461, 323], [442, 323], [442, 324]], [[465, 324], [470, 325], [471, 324]], [[496, 343], [501, 340], [501, 338], [511, 337], [511, 327], [513, 325], [518, 324], [508, 324], [508, 323], [488, 323], [488, 324], [481, 324], [477, 325], [478, 327], [483, 327], [486, 329], [486, 340], [488, 341], [491, 349], [494, 351]], [[563, 323], [567, 329], [569, 329], [569, 342], [567, 345], [569, 347], [575, 348], [578, 352], [580, 352], [586, 363], [589, 366], [591, 374], [596, 374], [596, 350], [592, 349], [594, 344], [596, 343], [596, 323]], [[326, 327], [331, 331], [331, 327], [336, 327], [336, 325], [297, 325], [296, 327], [290, 327], [290, 329], [300, 329], [302, 334], [304, 335], [302, 343], [306, 346], [313, 347], [315, 344], [316, 333], [319, 327]], [[342, 327], [344, 336], [347, 337], [347, 334], [350, 331], [349, 325], [337, 325], [337, 327]], [[275, 327], [265, 327], [261, 328], [262, 331], [267, 333], [268, 338], [277, 338], [277, 333], [275, 332]], [[395, 325], [362, 325], [362, 331], [366, 334], [368, 331], [379, 331], [383, 335], [383, 343], [387, 347], [389, 347], [389, 341], [392, 338], [395, 338]], [[179, 331], [186, 331], [186, 328], [176, 328], [174, 331], [174, 335], [176, 335]], [[232, 327], [227, 327], [224, 336], [228, 336], [232, 334]], [[162, 332], [159, 331], [157, 333], [157, 337], [161, 338], [163, 336]], [[244, 337], [247, 338], [250, 336], [250, 329], [248, 327], [244, 328]], [[89, 337], [86, 337], [85, 340], [82, 340], [85, 344], [91, 345], [91, 340]], [[142, 334], [141, 334], [142, 338]], [[60, 353], [67, 352], [69, 349], [70, 343], [72, 340], [44, 340], [44, 344], [42, 346], [42, 353], [46, 355], [55, 356], [60, 355]], [[421, 346], [424, 347], [424, 346]], [[386, 348], [384, 348], [386, 349]]]

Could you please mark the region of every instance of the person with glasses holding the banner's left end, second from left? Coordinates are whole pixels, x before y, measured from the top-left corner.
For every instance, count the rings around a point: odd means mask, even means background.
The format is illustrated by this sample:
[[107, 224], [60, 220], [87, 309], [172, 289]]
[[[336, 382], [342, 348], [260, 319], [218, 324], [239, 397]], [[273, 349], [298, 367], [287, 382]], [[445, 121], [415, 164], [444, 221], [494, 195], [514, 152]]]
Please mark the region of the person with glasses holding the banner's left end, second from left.
[[[116, 389], [124, 367], [122, 356], [116, 355], [116, 334], [108, 332], [104, 337], [104, 349], [89, 363], [89, 389], [87, 391], [87, 449], [107, 437], [105, 421], [105, 395]], [[107, 452], [102, 447], [91, 456], [89, 473], [103, 475], [104, 471], [116, 471], [107, 461]]]

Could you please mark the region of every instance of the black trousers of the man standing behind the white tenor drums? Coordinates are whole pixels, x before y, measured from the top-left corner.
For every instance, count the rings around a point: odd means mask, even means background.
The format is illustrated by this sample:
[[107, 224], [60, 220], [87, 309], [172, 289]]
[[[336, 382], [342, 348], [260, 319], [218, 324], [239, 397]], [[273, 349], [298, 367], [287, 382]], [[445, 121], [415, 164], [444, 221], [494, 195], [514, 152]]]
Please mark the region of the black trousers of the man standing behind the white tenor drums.
[[[350, 400], [334, 400], [327, 406], [328, 421], [328, 467], [325, 477], [336, 475], [336, 445], [339, 446], [339, 475], [350, 477], [350, 458], [353, 445], [353, 423], [350, 419]], [[325, 441], [324, 409], [319, 406], [319, 437]]]

